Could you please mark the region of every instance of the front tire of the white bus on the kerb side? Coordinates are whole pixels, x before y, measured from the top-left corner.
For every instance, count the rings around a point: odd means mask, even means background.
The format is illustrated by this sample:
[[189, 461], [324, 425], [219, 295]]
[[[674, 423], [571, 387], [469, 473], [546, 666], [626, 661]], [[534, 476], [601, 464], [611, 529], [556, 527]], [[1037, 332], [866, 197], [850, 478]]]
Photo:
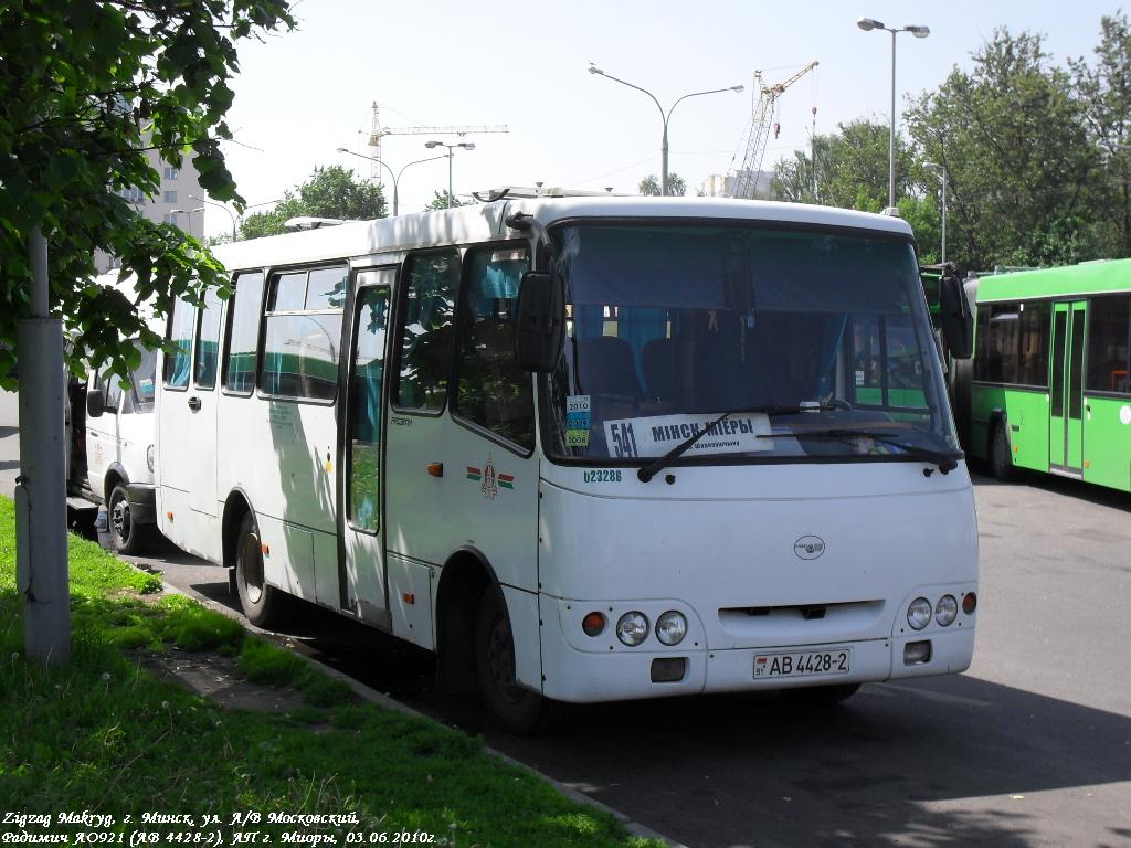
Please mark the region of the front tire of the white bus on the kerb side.
[[483, 592], [475, 613], [475, 677], [483, 706], [504, 730], [526, 735], [556, 725], [563, 704], [519, 685], [515, 677], [515, 639], [501, 595]]

